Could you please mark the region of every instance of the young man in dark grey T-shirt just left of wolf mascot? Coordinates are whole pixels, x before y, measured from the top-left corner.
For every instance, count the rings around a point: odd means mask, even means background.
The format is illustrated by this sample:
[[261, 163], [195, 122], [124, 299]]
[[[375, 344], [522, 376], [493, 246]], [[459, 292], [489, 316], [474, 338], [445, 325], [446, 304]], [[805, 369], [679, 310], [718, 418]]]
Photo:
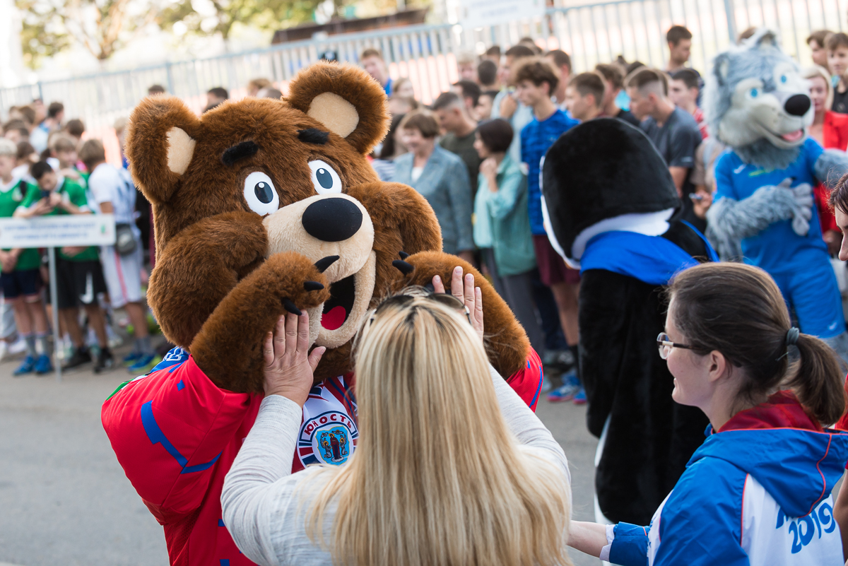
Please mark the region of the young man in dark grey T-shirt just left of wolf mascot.
[[683, 201], [683, 219], [701, 231], [706, 230], [706, 221], [695, 215], [689, 198], [689, 193], [695, 192], [689, 173], [695, 167], [695, 150], [701, 142], [698, 123], [669, 100], [668, 80], [661, 70], [642, 67], [633, 71], [628, 76], [627, 88], [630, 111], [642, 120], [642, 130], [654, 142], [672, 174]]

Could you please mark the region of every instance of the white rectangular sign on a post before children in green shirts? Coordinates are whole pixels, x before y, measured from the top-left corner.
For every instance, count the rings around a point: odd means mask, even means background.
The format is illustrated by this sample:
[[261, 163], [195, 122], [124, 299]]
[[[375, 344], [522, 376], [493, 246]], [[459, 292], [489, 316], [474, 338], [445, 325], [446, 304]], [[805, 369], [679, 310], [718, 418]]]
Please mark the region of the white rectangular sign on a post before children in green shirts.
[[0, 219], [0, 248], [111, 246], [113, 214], [62, 214]]

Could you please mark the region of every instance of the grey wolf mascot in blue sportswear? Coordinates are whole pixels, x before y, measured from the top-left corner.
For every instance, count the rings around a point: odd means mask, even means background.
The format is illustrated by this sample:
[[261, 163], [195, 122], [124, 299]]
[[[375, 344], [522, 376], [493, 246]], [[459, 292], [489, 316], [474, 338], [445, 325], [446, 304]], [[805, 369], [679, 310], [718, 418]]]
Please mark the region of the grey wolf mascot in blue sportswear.
[[716, 164], [708, 236], [722, 258], [744, 258], [772, 275], [801, 332], [848, 360], [840, 290], [812, 197], [812, 186], [845, 174], [848, 157], [806, 136], [808, 94], [773, 31], [717, 55], [705, 111], [729, 151]]

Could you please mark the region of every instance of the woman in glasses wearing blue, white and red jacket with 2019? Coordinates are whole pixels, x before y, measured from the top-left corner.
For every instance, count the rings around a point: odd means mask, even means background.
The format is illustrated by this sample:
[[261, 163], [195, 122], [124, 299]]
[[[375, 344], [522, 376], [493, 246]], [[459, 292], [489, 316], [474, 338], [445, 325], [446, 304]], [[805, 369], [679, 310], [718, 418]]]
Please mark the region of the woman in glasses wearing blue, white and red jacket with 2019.
[[[569, 545], [616, 564], [841, 566], [831, 490], [848, 435], [834, 352], [791, 325], [774, 280], [701, 264], [668, 290], [659, 355], [674, 401], [710, 419], [706, 441], [649, 526], [572, 521]], [[796, 360], [796, 361], [792, 361]]]

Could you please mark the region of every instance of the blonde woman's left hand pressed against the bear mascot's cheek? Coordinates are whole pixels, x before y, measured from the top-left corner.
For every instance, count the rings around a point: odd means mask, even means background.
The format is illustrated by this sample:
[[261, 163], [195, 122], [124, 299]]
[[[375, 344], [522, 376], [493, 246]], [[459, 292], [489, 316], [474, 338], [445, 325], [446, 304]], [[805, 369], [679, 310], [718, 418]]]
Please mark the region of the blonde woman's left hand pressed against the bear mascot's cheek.
[[325, 351], [316, 347], [310, 354], [309, 314], [283, 314], [265, 336], [265, 395], [282, 395], [303, 407]]

